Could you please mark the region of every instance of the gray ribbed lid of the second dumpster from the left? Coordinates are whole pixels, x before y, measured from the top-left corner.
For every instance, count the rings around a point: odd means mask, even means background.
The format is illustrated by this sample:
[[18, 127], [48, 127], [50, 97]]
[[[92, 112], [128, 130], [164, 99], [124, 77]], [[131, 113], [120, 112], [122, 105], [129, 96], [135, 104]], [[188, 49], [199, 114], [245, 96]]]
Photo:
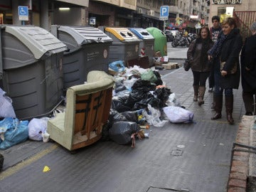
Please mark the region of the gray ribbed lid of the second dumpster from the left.
[[78, 45], [87, 43], [108, 43], [112, 38], [100, 31], [100, 29], [91, 26], [59, 26], [58, 31], [69, 33], [75, 38]]

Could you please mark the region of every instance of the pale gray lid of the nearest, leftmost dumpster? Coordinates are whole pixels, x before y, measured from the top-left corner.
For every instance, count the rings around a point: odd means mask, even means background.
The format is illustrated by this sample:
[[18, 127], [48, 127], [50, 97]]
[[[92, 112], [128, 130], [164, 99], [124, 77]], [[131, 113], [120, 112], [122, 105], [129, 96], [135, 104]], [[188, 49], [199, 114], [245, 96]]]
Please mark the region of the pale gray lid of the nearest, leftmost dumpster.
[[44, 28], [37, 26], [5, 26], [6, 33], [16, 36], [31, 50], [36, 59], [45, 53], [60, 53], [67, 50], [67, 46]]

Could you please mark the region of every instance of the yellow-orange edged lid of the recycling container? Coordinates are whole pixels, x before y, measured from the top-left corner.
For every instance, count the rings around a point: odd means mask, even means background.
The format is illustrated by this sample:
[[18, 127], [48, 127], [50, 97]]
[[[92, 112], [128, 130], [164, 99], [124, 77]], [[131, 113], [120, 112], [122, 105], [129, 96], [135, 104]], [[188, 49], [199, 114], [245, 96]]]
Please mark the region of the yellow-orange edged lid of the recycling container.
[[134, 33], [132, 33], [132, 31], [129, 31], [128, 28], [106, 27], [105, 31], [112, 33], [120, 41], [141, 41], [139, 38], [137, 38], [137, 36], [134, 35]]

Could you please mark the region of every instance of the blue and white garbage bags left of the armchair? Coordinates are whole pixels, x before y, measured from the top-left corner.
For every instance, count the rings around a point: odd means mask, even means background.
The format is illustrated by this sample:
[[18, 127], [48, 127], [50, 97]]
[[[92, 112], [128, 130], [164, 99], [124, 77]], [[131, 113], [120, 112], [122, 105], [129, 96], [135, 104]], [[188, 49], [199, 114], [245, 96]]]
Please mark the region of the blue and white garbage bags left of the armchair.
[[25, 142], [27, 139], [48, 142], [48, 117], [21, 121], [16, 118], [12, 100], [0, 88], [0, 149]]

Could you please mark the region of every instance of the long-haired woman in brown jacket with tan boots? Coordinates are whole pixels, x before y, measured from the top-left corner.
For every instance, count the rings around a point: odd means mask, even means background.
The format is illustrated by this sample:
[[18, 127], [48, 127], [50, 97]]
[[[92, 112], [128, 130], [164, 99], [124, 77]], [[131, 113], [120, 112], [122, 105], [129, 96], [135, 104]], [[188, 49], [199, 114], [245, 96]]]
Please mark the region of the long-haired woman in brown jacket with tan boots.
[[206, 92], [206, 80], [210, 73], [207, 51], [213, 46], [210, 38], [210, 30], [203, 26], [200, 28], [198, 37], [193, 40], [188, 47], [187, 58], [191, 63], [193, 73], [193, 101], [198, 101], [198, 105], [203, 105], [203, 97]]

